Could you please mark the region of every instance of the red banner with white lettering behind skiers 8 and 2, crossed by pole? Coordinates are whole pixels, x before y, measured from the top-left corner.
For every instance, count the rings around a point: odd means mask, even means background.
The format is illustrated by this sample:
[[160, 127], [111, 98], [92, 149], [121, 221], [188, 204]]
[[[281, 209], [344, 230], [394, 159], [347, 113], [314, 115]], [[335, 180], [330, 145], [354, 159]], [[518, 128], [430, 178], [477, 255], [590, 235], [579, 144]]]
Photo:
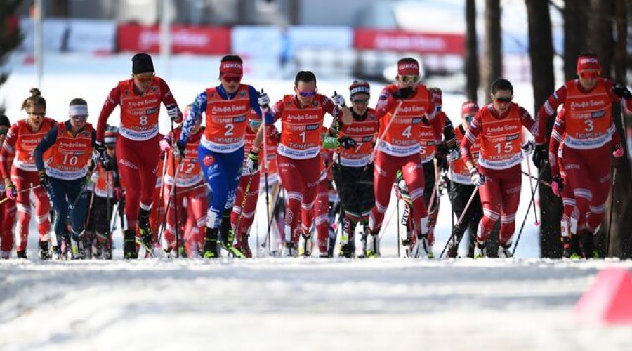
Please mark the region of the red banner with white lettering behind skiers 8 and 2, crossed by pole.
[[[160, 51], [158, 26], [119, 25], [119, 51]], [[201, 55], [224, 55], [230, 52], [230, 29], [225, 27], [171, 26], [171, 51]]]

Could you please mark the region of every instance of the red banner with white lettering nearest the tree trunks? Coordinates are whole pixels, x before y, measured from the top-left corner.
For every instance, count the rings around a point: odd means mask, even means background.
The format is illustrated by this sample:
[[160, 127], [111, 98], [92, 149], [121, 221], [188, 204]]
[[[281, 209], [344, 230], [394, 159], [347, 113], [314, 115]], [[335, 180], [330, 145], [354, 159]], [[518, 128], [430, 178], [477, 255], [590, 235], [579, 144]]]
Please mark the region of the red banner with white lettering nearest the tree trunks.
[[359, 28], [355, 29], [354, 46], [360, 50], [463, 55], [465, 35]]

